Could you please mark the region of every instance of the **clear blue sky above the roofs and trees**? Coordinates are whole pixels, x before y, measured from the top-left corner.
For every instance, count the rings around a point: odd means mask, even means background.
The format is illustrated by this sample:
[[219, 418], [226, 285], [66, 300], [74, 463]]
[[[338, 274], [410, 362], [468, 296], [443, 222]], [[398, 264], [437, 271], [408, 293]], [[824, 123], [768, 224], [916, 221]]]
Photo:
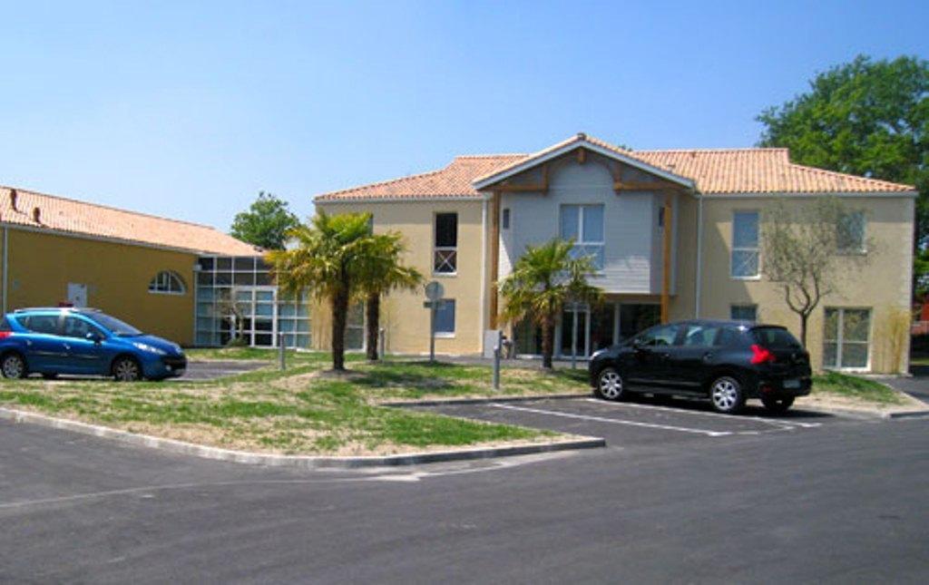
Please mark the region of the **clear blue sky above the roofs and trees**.
[[0, 4], [0, 184], [228, 229], [539, 150], [744, 147], [858, 53], [929, 58], [927, 2]]

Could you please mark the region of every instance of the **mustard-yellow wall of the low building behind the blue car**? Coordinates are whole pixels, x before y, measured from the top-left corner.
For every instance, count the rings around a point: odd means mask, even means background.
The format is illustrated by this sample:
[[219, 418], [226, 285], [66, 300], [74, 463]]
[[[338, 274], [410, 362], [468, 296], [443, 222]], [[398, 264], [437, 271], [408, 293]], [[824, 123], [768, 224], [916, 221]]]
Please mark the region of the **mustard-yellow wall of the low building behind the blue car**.
[[[87, 305], [138, 329], [191, 344], [193, 265], [197, 255], [10, 228], [7, 310], [54, 306], [68, 298], [68, 283], [87, 286]], [[173, 270], [187, 292], [149, 293], [150, 280]]]

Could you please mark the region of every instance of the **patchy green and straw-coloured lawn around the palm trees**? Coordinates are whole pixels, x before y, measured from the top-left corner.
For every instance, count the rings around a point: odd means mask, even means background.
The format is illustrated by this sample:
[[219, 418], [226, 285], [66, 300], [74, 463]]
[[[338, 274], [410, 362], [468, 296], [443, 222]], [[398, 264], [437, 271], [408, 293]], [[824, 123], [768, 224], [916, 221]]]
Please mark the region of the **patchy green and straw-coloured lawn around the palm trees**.
[[[556, 435], [379, 405], [493, 395], [490, 370], [483, 366], [374, 365], [352, 356], [353, 373], [337, 378], [322, 373], [331, 362], [321, 353], [290, 352], [285, 372], [275, 369], [276, 353], [268, 350], [194, 350], [190, 357], [262, 358], [269, 365], [214, 381], [3, 380], [0, 405], [204, 445], [288, 454], [387, 454]], [[500, 395], [585, 393], [583, 376], [583, 370], [504, 370]]]

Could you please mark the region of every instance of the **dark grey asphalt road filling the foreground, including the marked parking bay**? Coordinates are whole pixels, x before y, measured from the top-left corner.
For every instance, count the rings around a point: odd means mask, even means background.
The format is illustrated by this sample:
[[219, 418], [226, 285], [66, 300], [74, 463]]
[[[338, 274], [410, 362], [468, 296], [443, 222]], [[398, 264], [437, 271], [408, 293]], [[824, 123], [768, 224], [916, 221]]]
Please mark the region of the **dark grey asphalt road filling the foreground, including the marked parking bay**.
[[927, 419], [794, 416], [776, 430], [700, 409], [526, 406], [591, 419], [492, 416], [609, 447], [312, 473], [0, 422], [0, 581], [929, 578]]

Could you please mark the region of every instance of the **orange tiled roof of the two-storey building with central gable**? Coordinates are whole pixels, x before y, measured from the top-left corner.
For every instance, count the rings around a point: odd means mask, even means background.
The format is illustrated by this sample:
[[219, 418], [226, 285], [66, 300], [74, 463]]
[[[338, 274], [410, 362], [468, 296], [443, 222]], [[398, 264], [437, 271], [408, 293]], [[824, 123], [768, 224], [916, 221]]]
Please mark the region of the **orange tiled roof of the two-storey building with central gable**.
[[[476, 198], [480, 195], [476, 183], [486, 182], [515, 168], [521, 169], [521, 164], [538, 161], [553, 151], [577, 148], [579, 139], [580, 136], [573, 136], [534, 154], [458, 156], [438, 171], [324, 193], [315, 201]], [[666, 178], [677, 177], [675, 182], [686, 179], [697, 191], [707, 195], [903, 193], [916, 190], [910, 185], [794, 164], [787, 149], [623, 150], [593, 136], [584, 136], [583, 140], [598, 150], [610, 151], [618, 160], [625, 157], [635, 160], [635, 166], [640, 168], [661, 172], [666, 174]]]

